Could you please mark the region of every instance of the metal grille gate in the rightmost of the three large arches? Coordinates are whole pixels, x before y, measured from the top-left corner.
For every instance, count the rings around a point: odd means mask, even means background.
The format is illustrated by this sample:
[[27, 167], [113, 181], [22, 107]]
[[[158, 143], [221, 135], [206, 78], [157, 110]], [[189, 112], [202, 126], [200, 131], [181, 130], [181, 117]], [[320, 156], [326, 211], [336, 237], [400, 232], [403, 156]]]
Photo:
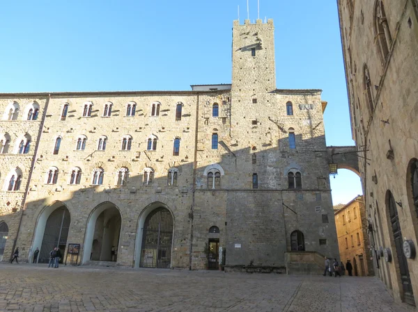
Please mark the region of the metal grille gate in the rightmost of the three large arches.
[[170, 268], [173, 217], [166, 208], [157, 208], [146, 217], [142, 233], [141, 268]]

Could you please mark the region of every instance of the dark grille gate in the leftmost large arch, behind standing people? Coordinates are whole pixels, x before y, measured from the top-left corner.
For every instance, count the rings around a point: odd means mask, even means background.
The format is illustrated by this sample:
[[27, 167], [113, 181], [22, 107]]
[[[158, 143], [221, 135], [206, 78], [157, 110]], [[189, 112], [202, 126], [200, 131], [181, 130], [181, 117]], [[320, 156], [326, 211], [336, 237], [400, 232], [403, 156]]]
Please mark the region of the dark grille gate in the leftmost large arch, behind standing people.
[[[70, 212], [65, 206], [56, 208], [56, 210], [49, 215], [47, 224], [45, 224], [45, 233], [42, 239], [42, 246], [40, 247], [40, 254], [38, 263], [49, 262], [49, 252], [54, 247], [61, 250], [64, 256], [65, 246], [67, 245], [68, 229], [70, 229]], [[38, 246], [33, 246], [34, 248]]]

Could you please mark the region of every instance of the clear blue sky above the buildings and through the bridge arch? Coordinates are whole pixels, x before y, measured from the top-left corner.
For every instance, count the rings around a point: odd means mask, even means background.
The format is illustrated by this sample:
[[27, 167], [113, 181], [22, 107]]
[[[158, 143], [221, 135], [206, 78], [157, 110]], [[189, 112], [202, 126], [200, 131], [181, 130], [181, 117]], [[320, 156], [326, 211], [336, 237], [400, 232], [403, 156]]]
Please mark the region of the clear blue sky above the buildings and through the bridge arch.
[[[4, 1], [0, 92], [230, 83], [238, 6], [243, 22], [246, 0]], [[277, 88], [322, 89], [327, 145], [353, 145], [336, 1], [261, 0], [260, 17], [274, 19]], [[348, 170], [331, 187], [334, 204], [362, 193]]]

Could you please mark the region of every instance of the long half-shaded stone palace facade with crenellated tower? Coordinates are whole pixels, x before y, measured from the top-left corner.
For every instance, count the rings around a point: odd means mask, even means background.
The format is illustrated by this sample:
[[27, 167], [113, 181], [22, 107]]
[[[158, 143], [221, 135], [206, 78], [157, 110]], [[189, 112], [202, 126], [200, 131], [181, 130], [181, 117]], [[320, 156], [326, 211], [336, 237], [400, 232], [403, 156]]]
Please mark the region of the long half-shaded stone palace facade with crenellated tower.
[[0, 95], [1, 113], [36, 101], [42, 115], [18, 117], [39, 133], [27, 164], [0, 155], [1, 183], [24, 167], [27, 190], [17, 211], [2, 204], [3, 261], [15, 245], [42, 262], [58, 246], [71, 263], [191, 270], [336, 256], [321, 90], [276, 88], [272, 20], [234, 22], [232, 67], [231, 85], [192, 91]]

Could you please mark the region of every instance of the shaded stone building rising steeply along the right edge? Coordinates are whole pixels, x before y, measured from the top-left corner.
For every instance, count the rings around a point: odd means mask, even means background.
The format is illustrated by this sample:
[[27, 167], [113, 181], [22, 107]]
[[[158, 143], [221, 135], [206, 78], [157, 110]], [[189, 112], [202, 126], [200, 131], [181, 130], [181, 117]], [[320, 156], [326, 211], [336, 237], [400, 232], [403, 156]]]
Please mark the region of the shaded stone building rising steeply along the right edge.
[[[417, 1], [339, 0], [353, 138], [376, 274], [398, 302], [418, 295]], [[385, 255], [385, 258], [384, 258]]]

